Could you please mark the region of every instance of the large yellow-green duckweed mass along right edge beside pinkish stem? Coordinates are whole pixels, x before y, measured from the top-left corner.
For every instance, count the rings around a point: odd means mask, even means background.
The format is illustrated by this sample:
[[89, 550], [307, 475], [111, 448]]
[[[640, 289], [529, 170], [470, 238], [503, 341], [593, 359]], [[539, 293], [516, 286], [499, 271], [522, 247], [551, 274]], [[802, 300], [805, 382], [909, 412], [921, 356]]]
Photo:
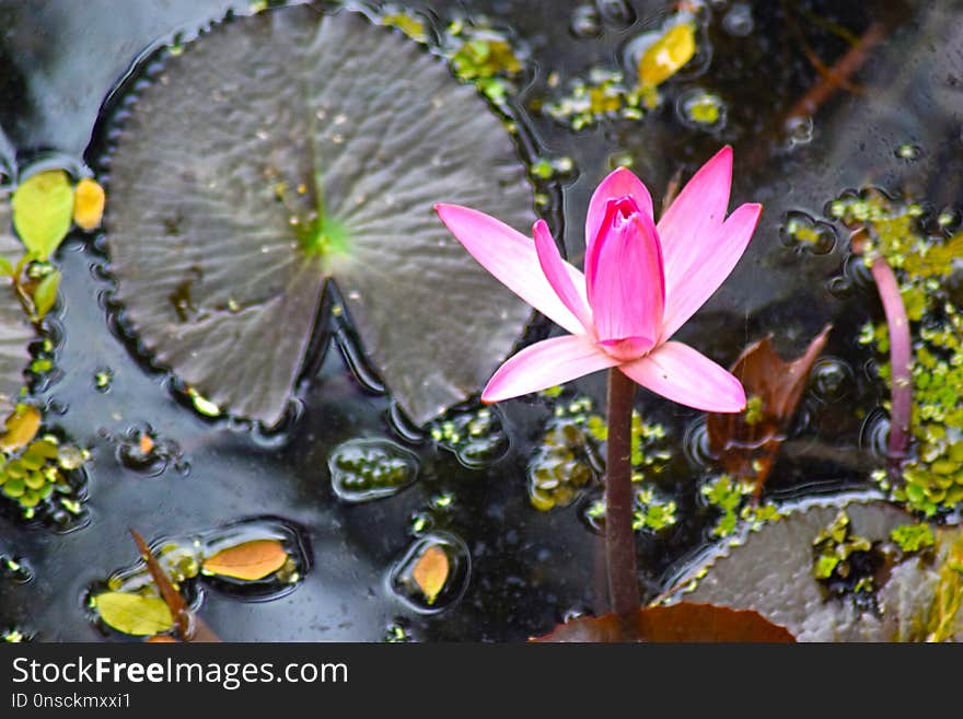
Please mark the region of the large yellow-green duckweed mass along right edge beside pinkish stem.
[[[920, 208], [917, 202], [900, 204], [866, 189], [833, 200], [828, 211], [846, 224], [863, 225], [867, 262], [885, 257], [896, 272], [914, 348], [912, 431], [916, 451], [904, 464], [902, 484], [882, 482], [894, 500], [933, 517], [963, 503], [963, 312], [945, 281], [963, 256], [963, 233], [927, 235]], [[859, 341], [883, 356], [879, 375], [889, 383], [885, 323], [865, 325]]]

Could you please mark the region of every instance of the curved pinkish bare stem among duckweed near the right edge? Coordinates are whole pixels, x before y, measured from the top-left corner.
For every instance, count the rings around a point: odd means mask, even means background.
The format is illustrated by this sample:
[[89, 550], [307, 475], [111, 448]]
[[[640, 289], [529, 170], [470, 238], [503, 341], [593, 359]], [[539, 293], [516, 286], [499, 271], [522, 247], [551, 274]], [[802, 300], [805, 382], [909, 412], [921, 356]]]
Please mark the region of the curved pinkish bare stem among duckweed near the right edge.
[[913, 344], [909, 321], [900, 294], [900, 285], [893, 268], [882, 257], [872, 263], [872, 276], [883, 301], [883, 312], [890, 329], [890, 469], [898, 472], [909, 450], [909, 422], [913, 415]]

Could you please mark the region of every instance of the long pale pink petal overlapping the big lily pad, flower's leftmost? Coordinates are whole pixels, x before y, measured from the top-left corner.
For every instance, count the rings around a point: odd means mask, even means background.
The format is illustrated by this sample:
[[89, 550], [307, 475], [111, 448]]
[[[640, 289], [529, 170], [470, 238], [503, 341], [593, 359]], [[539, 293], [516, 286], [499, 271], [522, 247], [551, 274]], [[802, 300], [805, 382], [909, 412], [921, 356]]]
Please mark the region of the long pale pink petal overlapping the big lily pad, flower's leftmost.
[[[436, 205], [441, 221], [465, 250], [497, 280], [554, 323], [581, 333], [582, 323], [565, 306], [542, 271], [535, 243], [503, 222], [478, 210], [457, 205]], [[584, 276], [568, 266], [576, 287]]]

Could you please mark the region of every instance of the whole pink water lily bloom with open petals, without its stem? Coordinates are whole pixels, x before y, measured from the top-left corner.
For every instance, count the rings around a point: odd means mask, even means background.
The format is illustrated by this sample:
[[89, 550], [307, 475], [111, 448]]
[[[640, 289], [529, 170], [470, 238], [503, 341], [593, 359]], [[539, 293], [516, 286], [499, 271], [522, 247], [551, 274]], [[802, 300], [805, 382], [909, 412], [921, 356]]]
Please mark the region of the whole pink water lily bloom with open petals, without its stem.
[[619, 169], [595, 189], [585, 220], [585, 271], [561, 258], [548, 225], [534, 242], [492, 217], [457, 205], [436, 210], [465, 248], [506, 287], [567, 329], [502, 364], [481, 394], [494, 403], [617, 367], [638, 384], [706, 411], [741, 411], [732, 374], [671, 337], [735, 267], [762, 206], [726, 218], [732, 149], [720, 150], [655, 224], [652, 198]]

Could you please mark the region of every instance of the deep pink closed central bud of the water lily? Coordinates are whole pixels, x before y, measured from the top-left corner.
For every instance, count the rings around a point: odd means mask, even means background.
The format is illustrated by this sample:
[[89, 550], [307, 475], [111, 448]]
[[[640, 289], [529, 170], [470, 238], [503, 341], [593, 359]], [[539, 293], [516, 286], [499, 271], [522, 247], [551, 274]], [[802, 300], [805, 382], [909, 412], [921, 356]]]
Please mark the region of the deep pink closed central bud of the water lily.
[[[599, 340], [636, 339], [641, 352], [659, 339], [665, 288], [652, 219], [610, 200], [599, 236], [585, 255], [589, 304]], [[641, 353], [640, 352], [640, 353]]]

